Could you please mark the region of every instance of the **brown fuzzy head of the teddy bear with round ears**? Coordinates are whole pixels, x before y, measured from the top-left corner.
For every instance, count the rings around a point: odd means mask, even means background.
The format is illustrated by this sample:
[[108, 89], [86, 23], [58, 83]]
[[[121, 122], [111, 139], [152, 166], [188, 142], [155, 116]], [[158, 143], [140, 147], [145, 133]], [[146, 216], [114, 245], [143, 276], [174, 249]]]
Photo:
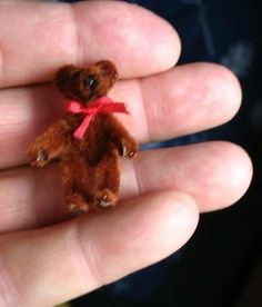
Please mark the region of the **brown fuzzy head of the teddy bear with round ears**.
[[114, 65], [103, 60], [87, 68], [64, 66], [57, 72], [54, 82], [66, 98], [85, 105], [107, 95], [117, 79]]

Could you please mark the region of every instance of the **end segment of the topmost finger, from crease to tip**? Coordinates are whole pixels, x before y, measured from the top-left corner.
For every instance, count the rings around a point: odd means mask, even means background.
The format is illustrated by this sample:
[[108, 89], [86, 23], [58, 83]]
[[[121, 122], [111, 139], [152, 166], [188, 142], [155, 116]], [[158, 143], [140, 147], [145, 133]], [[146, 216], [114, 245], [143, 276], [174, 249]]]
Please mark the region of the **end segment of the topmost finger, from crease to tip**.
[[[87, 18], [87, 9], [89, 18]], [[180, 56], [181, 42], [172, 26], [138, 4], [121, 1], [91, 1], [74, 4], [80, 61], [108, 58], [117, 63], [121, 78], [144, 77], [172, 68]], [[92, 32], [84, 29], [92, 26]]]

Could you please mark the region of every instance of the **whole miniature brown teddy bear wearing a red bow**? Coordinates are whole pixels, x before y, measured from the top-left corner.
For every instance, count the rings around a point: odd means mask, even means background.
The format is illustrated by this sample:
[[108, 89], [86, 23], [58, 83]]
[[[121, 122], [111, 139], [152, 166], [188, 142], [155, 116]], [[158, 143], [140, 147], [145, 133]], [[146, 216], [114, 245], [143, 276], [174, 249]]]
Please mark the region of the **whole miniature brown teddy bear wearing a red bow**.
[[118, 78], [114, 65], [103, 60], [88, 68], [64, 66], [54, 81], [68, 100], [63, 117], [28, 149], [32, 166], [59, 160], [70, 211], [115, 205], [119, 196], [119, 156], [132, 158], [138, 145], [111, 112], [128, 112], [105, 95]]

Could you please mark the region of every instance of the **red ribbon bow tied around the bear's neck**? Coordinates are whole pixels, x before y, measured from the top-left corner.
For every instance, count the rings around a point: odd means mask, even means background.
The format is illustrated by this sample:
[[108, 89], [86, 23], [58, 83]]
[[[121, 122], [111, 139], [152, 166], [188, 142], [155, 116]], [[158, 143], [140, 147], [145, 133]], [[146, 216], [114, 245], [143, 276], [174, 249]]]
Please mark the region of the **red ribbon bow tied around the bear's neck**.
[[99, 112], [120, 112], [120, 113], [129, 113], [125, 109], [125, 106], [123, 102], [113, 102], [112, 99], [110, 99], [107, 96], [103, 96], [93, 102], [90, 102], [87, 107], [82, 106], [80, 102], [74, 100], [69, 100], [66, 106], [66, 111], [70, 113], [83, 113], [87, 115], [82, 123], [79, 126], [79, 128], [74, 131], [73, 136], [77, 139], [81, 139], [88, 129], [88, 126], [91, 121], [91, 119]]

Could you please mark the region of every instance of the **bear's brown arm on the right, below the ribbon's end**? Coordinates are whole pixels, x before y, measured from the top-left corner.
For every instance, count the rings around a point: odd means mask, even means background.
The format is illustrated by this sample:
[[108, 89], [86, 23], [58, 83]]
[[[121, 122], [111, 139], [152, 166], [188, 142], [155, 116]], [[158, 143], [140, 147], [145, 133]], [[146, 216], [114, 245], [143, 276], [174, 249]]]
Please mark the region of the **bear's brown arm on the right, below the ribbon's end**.
[[120, 156], [132, 158], [137, 154], [137, 141], [112, 115], [107, 118], [107, 129], [109, 129], [110, 139], [117, 146]]

